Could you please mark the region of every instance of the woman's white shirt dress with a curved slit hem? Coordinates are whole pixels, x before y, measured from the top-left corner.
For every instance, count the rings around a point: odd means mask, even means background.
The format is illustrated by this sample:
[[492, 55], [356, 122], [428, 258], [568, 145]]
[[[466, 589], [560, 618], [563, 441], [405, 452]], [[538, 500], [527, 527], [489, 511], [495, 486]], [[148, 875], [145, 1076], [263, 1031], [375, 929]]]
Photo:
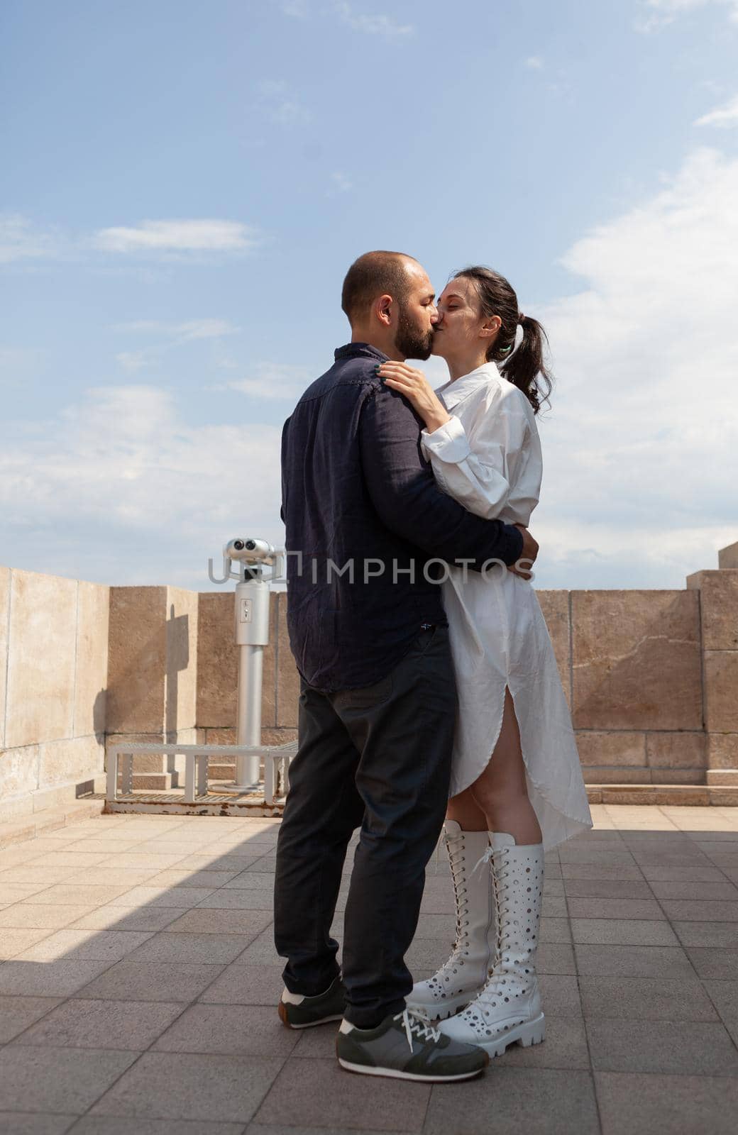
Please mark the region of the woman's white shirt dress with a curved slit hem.
[[[442, 386], [451, 421], [421, 434], [439, 488], [469, 512], [528, 527], [543, 472], [532, 406], [495, 363]], [[443, 583], [459, 689], [451, 794], [489, 762], [505, 687], [515, 706], [528, 794], [546, 849], [592, 827], [569, 707], [529, 580], [450, 568]]]

